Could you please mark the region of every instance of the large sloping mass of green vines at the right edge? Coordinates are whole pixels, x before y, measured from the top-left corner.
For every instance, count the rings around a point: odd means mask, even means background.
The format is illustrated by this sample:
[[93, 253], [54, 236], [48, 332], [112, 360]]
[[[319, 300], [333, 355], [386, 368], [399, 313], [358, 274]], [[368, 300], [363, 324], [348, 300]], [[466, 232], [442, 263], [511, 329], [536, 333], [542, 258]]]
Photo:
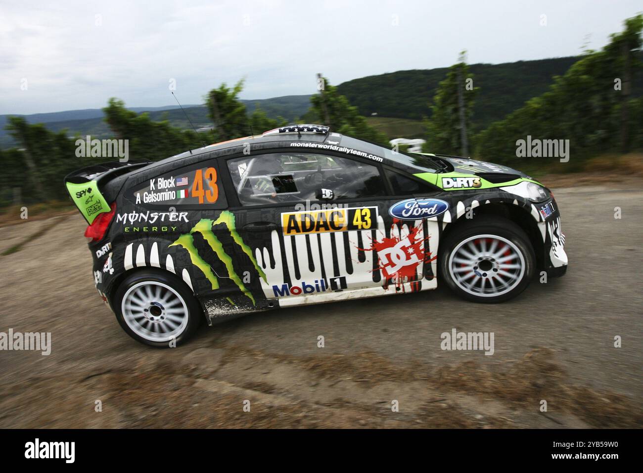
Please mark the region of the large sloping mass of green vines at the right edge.
[[[543, 95], [478, 134], [476, 158], [515, 160], [516, 141], [530, 135], [540, 140], [570, 140], [572, 159], [583, 160], [619, 147], [623, 127], [633, 133], [627, 135], [628, 141], [640, 146], [642, 98], [624, 97], [624, 90], [615, 88], [615, 79], [624, 77], [626, 63], [632, 70], [640, 69], [637, 56], [643, 17], [628, 19], [625, 26], [624, 32], [611, 35], [610, 44], [601, 51], [589, 52], [565, 75], [556, 77]], [[631, 112], [625, 118], [624, 106]]]

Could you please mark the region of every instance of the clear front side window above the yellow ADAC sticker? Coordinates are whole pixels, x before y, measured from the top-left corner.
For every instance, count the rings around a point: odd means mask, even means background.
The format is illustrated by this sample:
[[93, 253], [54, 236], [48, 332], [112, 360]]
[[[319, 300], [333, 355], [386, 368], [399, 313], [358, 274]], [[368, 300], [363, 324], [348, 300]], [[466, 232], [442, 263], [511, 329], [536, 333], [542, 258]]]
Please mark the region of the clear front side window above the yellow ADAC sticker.
[[385, 195], [376, 166], [312, 153], [273, 153], [228, 161], [242, 205]]

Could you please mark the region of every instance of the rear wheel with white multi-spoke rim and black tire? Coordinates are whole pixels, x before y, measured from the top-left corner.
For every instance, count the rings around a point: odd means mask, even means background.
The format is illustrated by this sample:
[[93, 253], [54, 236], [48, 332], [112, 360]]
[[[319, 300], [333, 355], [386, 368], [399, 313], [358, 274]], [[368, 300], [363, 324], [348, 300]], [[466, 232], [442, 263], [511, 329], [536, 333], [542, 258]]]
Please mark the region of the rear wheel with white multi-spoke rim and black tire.
[[[159, 295], [163, 296], [163, 298], [151, 297], [150, 300], [152, 302], [146, 304], [146, 302], [148, 302], [147, 299], [139, 299], [141, 297], [141, 290], [145, 292], [145, 288], [150, 289], [152, 296], [154, 296], [154, 292], [158, 290]], [[127, 301], [131, 302], [129, 307], [123, 304], [123, 298], [126, 295]], [[143, 303], [139, 304], [135, 302], [132, 296], [136, 296], [136, 299]], [[165, 302], [166, 299], [167, 302]], [[114, 292], [111, 302], [114, 313], [116, 314], [116, 320], [118, 320], [118, 323], [125, 333], [132, 337], [132, 339], [153, 347], [169, 348], [170, 346], [179, 346], [190, 339], [196, 329], [201, 325], [201, 322], [203, 322], [203, 310], [194, 297], [192, 290], [187, 284], [181, 281], [181, 279], [176, 277], [176, 275], [170, 274], [167, 271], [147, 268], [127, 275], [116, 289], [116, 292]], [[163, 306], [164, 302], [167, 307]], [[144, 310], [144, 317], [147, 320], [143, 319], [143, 316], [136, 317], [137, 313], [142, 314], [143, 311], [132, 310], [132, 307], [138, 309], [139, 307], [142, 308], [145, 306], [148, 307], [148, 310]], [[153, 309], [152, 306], [154, 306]], [[127, 320], [125, 314], [123, 314], [123, 309], [127, 311], [127, 315], [129, 316]], [[153, 311], [155, 313], [152, 313]], [[177, 311], [179, 313], [177, 313]], [[132, 320], [132, 317], [134, 317], [134, 320]], [[172, 319], [170, 319], [170, 317], [172, 317]], [[185, 321], [181, 319], [181, 322], [177, 322], [175, 317], [185, 317]], [[151, 319], [156, 320], [152, 321]], [[140, 320], [140, 322], [137, 322], [137, 320]], [[145, 336], [145, 326], [160, 331], [161, 324], [168, 329], [172, 329], [172, 324], [176, 324], [177, 327], [174, 330], [166, 331], [165, 337], [160, 336], [160, 333], [159, 337], [156, 337], [156, 334], [152, 332], [151, 329], [148, 331], [149, 335], [147, 337]], [[154, 327], [155, 325], [156, 327]], [[166, 339], [167, 337], [169, 338]], [[155, 338], [158, 338], [158, 340]]]

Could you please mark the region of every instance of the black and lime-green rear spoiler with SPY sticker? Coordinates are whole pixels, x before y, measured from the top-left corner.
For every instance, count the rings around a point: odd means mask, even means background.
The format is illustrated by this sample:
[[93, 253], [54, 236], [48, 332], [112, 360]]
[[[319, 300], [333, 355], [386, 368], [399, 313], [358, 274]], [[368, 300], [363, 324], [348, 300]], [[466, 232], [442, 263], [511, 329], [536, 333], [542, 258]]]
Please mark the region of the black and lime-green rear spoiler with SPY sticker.
[[[73, 203], [76, 204], [82, 216], [91, 225], [96, 216], [109, 212], [109, 202], [103, 191], [109, 181], [123, 176], [134, 169], [140, 169], [152, 163], [149, 160], [139, 160], [127, 163], [112, 161], [84, 167], [65, 176], [65, 187]], [[107, 196], [115, 198], [116, 196]]]

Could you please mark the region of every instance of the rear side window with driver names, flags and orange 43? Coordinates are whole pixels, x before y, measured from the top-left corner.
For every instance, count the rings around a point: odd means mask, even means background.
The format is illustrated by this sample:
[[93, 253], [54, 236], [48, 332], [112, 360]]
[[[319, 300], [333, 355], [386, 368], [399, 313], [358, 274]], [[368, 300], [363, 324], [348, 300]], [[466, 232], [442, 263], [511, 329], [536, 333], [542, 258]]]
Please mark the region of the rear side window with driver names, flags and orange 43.
[[178, 168], [145, 181], [134, 190], [134, 203], [177, 207], [228, 207], [216, 162]]

